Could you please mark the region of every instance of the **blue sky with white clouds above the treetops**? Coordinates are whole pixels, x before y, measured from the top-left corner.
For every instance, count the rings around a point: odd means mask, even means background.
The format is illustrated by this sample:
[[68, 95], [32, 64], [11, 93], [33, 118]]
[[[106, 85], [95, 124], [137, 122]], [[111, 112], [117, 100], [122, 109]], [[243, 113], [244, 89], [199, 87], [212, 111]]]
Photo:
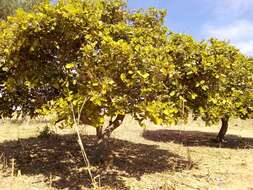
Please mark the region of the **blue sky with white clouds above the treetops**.
[[194, 38], [228, 40], [253, 55], [253, 0], [128, 0], [130, 8], [167, 9], [166, 25]]

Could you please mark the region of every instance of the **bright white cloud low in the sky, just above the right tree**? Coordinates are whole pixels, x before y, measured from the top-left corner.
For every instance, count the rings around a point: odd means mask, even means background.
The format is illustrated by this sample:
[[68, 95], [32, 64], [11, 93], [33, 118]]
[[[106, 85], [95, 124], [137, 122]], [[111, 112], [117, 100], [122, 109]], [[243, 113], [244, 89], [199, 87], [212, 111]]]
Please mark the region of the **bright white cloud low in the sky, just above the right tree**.
[[205, 24], [202, 28], [205, 38], [215, 37], [227, 40], [238, 47], [243, 53], [253, 55], [253, 22], [236, 20], [227, 25]]

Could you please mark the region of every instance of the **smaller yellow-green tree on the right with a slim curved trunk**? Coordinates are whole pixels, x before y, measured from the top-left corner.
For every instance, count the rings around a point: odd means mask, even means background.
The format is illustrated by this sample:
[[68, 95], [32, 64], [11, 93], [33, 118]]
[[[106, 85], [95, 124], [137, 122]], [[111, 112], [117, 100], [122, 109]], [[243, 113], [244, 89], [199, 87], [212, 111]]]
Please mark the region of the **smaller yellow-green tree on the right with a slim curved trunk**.
[[[207, 123], [221, 119], [217, 141], [224, 139], [229, 117], [245, 118], [252, 112], [252, 63], [232, 45], [210, 39], [197, 42], [185, 34], [170, 36], [170, 55], [186, 117], [193, 113]], [[252, 105], [252, 103], [251, 103]]]

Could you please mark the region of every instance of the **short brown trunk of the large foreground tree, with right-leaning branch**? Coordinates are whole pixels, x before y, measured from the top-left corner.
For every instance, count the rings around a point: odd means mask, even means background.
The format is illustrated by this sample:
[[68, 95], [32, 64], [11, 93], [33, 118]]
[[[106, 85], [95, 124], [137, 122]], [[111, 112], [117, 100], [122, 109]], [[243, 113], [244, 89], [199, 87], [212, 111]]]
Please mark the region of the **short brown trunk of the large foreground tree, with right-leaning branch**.
[[124, 120], [125, 115], [117, 115], [114, 121], [110, 121], [109, 125], [103, 130], [102, 127], [96, 128], [97, 142], [94, 154], [94, 162], [102, 164], [106, 168], [113, 163], [113, 151], [110, 147], [110, 136], [112, 132], [118, 128]]

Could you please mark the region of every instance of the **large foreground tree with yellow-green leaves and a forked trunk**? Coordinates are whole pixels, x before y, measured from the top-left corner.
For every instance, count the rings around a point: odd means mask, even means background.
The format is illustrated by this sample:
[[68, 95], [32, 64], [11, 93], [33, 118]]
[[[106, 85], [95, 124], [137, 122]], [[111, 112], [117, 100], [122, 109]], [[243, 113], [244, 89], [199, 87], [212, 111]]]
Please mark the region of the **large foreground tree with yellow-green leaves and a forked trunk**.
[[43, 107], [33, 100], [35, 108], [69, 123], [72, 112], [82, 110], [82, 123], [97, 128], [99, 150], [126, 114], [140, 124], [175, 122], [177, 104], [161, 82], [174, 72], [164, 16], [156, 9], [128, 11], [118, 0], [59, 1], [30, 13], [18, 10], [0, 26], [4, 90], [56, 89], [56, 95], [43, 98], [43, 104], [50, 100]]

